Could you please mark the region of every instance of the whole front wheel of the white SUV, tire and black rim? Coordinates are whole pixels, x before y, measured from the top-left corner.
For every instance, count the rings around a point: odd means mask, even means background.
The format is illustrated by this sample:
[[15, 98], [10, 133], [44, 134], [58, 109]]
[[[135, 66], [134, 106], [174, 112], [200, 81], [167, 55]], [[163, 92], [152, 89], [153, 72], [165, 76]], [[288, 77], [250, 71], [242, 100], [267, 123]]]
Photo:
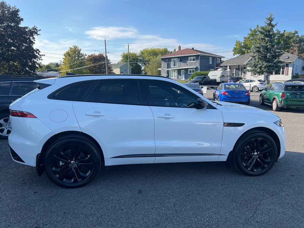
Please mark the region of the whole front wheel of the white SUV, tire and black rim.
[[259, 176], [273, 167], [277, 154], [277, 146], [270, 135], [261, 131], [251, 131], [235, 144], [232, 161], [241, 173]]

